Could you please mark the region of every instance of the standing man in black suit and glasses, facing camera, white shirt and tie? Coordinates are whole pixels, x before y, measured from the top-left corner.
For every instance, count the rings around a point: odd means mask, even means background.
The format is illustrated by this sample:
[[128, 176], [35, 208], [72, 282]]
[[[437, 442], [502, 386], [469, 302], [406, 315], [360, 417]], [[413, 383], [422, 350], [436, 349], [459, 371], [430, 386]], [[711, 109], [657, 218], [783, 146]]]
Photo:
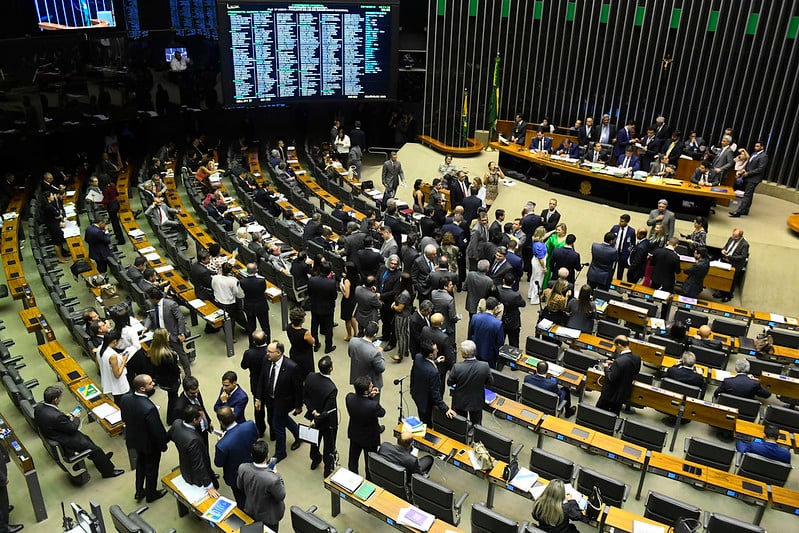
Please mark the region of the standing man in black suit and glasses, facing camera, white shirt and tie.
[[[275, 459], [286, 458], [286, 428], [294, 435], [291, 450], [302, 445], [300, 429], [289, 413], [294, 416], [302, 413], [302, 381], [297, 363], [284, 357], [286, 351], [282, 342], [273, 342], [266, 348], [269, 365], [261, 372], [258, 387], [255, 389], [255, 408], [266, 406], [266, 421], [275, 437]], [[292, 412], [293, 409], [293, 412]]]

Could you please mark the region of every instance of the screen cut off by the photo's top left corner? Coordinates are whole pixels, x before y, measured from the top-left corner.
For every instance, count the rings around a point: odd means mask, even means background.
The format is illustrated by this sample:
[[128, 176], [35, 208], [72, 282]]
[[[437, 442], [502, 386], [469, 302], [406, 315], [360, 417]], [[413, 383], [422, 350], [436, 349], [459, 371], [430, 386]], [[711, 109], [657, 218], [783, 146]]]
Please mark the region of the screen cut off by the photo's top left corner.
[[115, 28], [114, 0], [35, 0], [41, 31]]

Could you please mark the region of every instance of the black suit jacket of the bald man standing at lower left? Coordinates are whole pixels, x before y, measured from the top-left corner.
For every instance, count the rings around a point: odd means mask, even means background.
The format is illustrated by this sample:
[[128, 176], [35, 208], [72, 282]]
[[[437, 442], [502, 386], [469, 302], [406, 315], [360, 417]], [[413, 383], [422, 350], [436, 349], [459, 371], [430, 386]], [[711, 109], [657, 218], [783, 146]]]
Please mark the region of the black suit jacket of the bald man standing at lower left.
[[146, 454], [165, 452], [169, 439], [155, 404], [134, 392], [124, 394], [118, 403], [128, 448]]

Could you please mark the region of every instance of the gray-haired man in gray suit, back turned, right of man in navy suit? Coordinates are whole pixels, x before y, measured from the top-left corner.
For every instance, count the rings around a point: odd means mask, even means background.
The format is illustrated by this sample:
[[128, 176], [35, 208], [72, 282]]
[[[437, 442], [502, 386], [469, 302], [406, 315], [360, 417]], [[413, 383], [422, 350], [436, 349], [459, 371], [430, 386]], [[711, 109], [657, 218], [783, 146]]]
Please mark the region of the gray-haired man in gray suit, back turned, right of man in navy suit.
[[463, 361], [452, 367], [447, 379], [447, 385], [454, 387], [452, 390], [452, 409], [461, 416], [469, 417], [472, 424], [483, 421], [484, 390], [494, 380], [491, 377], [491, 368], [485, 361], [475, 358], [477, 346], [473, 341], [463, 341], [460, 345]]

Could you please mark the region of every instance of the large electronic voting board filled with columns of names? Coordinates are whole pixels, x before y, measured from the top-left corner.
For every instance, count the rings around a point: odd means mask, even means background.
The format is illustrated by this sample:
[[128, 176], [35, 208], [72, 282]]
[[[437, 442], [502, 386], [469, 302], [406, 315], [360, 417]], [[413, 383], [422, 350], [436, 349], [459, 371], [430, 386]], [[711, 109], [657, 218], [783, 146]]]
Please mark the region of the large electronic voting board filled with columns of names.
[[397, 0], [218, 6], [225, 106], [396, 98]]

